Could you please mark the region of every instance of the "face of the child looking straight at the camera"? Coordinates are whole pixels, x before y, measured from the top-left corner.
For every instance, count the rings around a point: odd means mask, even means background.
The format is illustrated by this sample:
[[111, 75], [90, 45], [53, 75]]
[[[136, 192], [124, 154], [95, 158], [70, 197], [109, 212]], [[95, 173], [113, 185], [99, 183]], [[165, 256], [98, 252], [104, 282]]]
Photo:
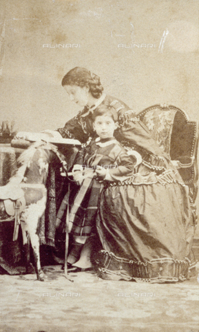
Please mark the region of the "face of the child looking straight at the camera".
[[100, 138], [112, 138], [118, 122], [114, 122], [113, 118], [108, 115], [96, 116], [93, 127]]

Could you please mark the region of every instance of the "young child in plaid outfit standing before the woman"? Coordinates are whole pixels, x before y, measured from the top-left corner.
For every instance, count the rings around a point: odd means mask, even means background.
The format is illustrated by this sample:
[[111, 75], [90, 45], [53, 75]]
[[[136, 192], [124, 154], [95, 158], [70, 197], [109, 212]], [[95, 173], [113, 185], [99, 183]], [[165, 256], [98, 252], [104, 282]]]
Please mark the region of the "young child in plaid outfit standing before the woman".
[[[121, 182], [134, 174], [141, 163], [136, 151], [127, 152], [114, 138], [118, 128], [118, 114], [108, 105], [93, 113], [93, 127], [98, 136], [81, 149], [74, 165], [74, 180], [81, 185], [70, 210], [70, 232], [73, 241], [68, 263], [74, 264], [81, 256], [86, 241], [96, 233], [96, 213], [101, 190], [109, 181]], [[76, 263], [80, 268], [90, 263]], [[86, 265], [87, 265], [86, 264]]]

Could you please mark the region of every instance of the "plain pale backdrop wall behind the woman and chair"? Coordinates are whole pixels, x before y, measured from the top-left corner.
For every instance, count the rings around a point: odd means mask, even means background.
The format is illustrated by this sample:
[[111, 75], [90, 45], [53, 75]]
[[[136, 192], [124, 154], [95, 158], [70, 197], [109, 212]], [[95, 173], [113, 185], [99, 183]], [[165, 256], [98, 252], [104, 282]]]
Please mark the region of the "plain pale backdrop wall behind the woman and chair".
[[197, 0], [1, 0], [0, 120], [62, 127], [79, 110], [61, 86], [74, 66], [137, 112], [167, 103], [198, 119], [198, 17]]

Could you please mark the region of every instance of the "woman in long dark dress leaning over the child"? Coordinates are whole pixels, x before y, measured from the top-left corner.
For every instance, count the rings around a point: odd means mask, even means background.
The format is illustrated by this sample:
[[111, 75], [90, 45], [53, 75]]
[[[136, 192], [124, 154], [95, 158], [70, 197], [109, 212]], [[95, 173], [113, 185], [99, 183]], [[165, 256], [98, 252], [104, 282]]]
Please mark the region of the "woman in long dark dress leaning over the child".
[[92, 125], [96, 108], [114, 107], [118, 128], [114, 136], [141, 156], [127, 181], [109, 182], [101, 192], [97, 229], [104, 250], [99, 274], [106, 279], [178, 282], [187, 277], [193, 241], [193, 216], [187, 186], [169, 156], [154, 141], [134, 111], [103, 93], [100, 79], [76, 67], [62, 80], [70, 100], [83, 107], [65, 127], [63, 138], [86, 143], [97, 137]]

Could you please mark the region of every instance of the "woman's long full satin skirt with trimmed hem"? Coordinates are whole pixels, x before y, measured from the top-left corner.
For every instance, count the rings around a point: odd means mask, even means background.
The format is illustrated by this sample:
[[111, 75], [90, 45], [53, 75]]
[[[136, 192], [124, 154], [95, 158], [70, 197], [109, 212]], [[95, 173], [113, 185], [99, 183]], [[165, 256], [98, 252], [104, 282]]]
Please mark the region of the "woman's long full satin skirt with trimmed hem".
[[103, 279], [186, 279], [193, 241], [188, 188], [174, 176], [171, 181], [157, 179], [150, 174], [103, 189], [96, 220]]

